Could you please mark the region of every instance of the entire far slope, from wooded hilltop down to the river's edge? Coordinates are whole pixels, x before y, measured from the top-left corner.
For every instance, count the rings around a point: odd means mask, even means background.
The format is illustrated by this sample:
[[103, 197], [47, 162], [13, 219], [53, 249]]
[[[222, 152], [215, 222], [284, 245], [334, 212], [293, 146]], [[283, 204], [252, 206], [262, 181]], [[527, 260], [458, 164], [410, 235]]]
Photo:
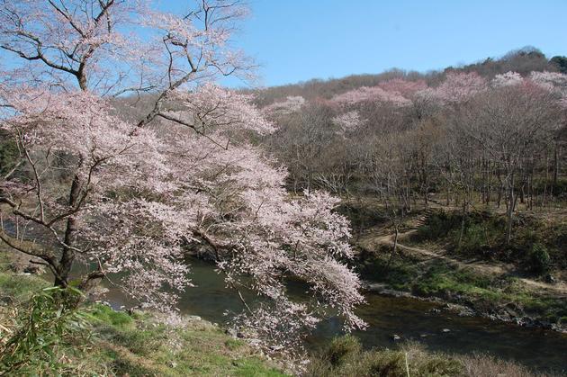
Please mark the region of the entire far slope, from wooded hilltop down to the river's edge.
[[[443, 72], [267, 88], [288, 190], [344, 199], [366, 279], [482, 314], [567, 319], [567, 75], [534, 48]], [[374, 286], [377, 286], [374, 284]]]

